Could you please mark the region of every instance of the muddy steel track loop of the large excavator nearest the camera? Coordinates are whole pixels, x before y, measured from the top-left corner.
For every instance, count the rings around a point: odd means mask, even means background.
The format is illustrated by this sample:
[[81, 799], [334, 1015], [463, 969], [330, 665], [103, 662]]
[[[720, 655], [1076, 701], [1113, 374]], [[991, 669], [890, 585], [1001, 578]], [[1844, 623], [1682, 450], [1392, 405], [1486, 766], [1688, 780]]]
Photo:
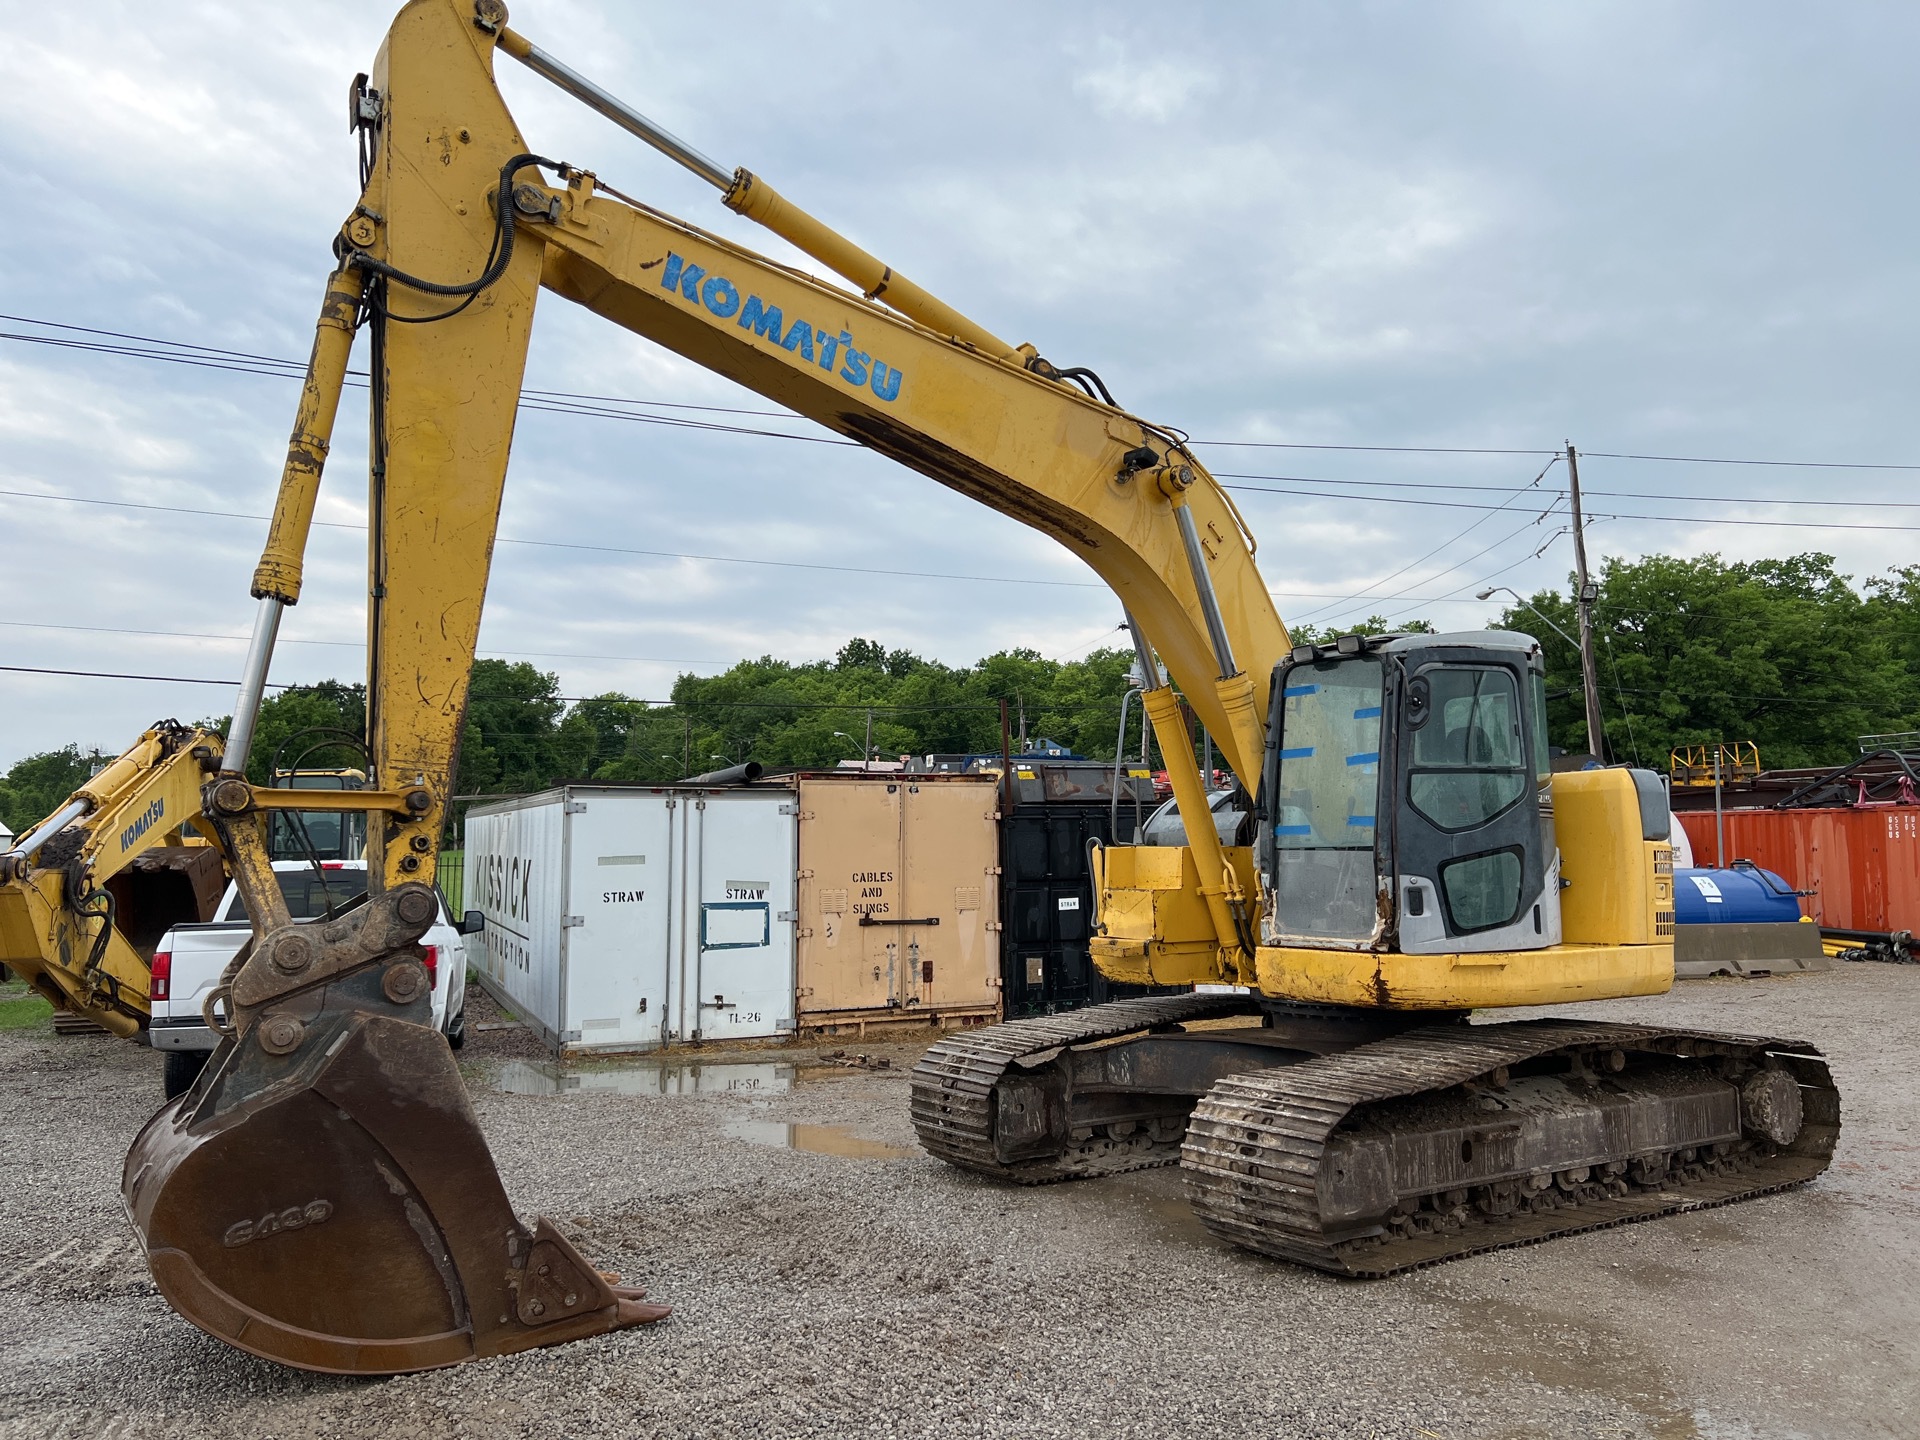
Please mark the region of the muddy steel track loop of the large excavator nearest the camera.
[[[1776, 1054], [1799, 1081], [1805, 1123], [1788, 1150], [1736, 1173], [1672, 1188], [1590, 1198], [1540, 1213], [1475, 1217], [1455, 1233], [1352, 1244], [1321, 1223], [1317, 1175], [1334, 1129], [1357, 1106], [1444, 1091], [1500, 1066], [1555, 1050], [1607, 1046], [1665, 1054]], [[1188, 1198], [1219, 1238], [1352, 1277], [1380, 1277], [1442, 1260], [1536, 1244], [1686, 1210], [1732, 1204], [1803, 1185], [1826, 1169], [1839, 1137], [1839, 1098], [1818, 1050], [1705, 1031], [1571, 1020], [1417, 1029], [1298, 1066], [1229, 1075], [1194, 1108], [1181, 1152]]]

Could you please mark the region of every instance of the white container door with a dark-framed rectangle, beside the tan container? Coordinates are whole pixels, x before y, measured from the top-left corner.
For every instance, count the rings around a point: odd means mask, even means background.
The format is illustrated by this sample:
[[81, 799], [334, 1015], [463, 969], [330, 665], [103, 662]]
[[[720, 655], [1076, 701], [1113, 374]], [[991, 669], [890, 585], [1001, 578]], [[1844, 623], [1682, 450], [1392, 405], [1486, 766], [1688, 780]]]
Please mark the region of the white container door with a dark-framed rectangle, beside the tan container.
[[793, 1029], [793, 791], [733, 791], [687, 801], [693, 895], [687, 943], [697, 954], [684, 1002], [703, 1041]]

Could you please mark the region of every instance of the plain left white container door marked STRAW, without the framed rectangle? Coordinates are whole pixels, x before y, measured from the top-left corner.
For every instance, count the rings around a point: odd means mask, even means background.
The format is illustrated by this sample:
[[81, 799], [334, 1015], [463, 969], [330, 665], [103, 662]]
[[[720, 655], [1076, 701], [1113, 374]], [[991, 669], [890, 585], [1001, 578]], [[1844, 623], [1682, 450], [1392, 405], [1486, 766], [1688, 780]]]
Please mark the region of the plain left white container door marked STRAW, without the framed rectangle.
[[666, 1020], [672, 810], [662, 795], [586, 791], [568, 816], [566, 1043], [649, 1048]]

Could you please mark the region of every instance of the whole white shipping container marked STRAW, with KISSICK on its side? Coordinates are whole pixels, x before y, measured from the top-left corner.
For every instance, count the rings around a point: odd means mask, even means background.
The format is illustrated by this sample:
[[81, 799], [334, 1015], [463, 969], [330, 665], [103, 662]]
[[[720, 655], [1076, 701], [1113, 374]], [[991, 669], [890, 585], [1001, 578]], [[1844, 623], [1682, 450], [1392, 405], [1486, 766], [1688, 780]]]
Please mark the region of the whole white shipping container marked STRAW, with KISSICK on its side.
[[795, 808], [783, 787], [597, 785], [474, 808], [468, 960], [557, 1048], [791, 1033]]

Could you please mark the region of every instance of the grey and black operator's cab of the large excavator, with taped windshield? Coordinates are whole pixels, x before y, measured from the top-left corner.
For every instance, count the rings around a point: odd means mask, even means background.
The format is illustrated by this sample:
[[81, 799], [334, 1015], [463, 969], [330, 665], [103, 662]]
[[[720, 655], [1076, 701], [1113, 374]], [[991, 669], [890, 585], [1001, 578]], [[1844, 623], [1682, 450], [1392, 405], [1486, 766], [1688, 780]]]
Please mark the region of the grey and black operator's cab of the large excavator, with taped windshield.
[[1267, 735], [1267, 945], [1559, 945], [1538, 641], [1494, 630], [1298, 645], [1273, 670]]

